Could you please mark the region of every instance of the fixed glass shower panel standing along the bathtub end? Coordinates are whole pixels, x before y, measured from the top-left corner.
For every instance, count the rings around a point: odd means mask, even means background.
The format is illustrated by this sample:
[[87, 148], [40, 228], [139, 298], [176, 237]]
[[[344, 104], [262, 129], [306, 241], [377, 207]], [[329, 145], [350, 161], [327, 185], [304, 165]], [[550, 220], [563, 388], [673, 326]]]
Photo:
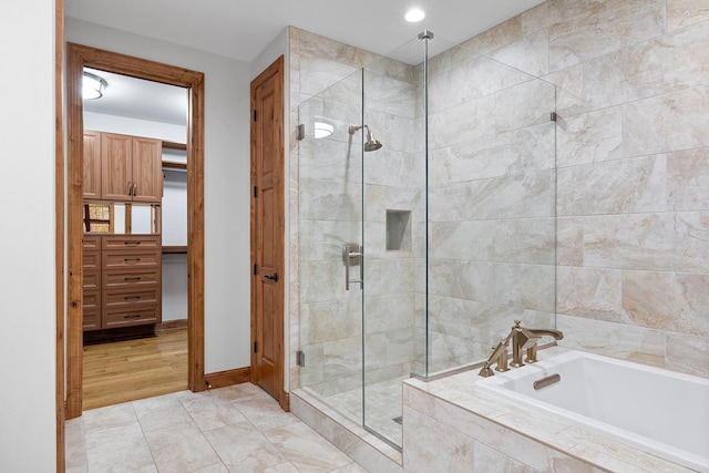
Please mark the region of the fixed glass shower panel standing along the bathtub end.
[[532, 65], [430, 58], [425, 374], [486, 359], [515, 319], [555, 326], [556, 99]]

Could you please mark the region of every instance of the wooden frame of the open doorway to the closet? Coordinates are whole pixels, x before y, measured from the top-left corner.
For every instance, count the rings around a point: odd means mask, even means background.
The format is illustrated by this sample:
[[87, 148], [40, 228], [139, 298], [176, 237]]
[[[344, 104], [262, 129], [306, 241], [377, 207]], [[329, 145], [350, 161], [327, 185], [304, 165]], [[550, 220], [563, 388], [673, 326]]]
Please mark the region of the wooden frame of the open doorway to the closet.
[[[83, 68], [187, 89], [187, 382], [204, 391], [204, 74], [66, 43], [66, 419], [81, 415], [83, 384]], [[59, 268], [58, 268], [59, 269]]]

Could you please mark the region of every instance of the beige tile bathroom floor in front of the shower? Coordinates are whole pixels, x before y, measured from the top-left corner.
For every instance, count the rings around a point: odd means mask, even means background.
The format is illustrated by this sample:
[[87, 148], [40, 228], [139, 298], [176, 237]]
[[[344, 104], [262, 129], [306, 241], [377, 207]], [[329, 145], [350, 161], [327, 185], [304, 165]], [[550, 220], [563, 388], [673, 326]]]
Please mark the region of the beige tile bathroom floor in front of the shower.
[[366, 472], [250, 383], [85, 411], [66, 472]]

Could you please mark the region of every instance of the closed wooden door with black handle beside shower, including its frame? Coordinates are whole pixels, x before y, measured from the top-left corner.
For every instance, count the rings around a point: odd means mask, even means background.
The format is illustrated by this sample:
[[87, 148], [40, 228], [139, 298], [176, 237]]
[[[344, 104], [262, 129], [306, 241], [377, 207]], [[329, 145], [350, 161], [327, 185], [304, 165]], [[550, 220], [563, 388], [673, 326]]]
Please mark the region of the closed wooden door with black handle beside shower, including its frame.
[[284, 60], [251, 82], [251, 381], [284, 392]]

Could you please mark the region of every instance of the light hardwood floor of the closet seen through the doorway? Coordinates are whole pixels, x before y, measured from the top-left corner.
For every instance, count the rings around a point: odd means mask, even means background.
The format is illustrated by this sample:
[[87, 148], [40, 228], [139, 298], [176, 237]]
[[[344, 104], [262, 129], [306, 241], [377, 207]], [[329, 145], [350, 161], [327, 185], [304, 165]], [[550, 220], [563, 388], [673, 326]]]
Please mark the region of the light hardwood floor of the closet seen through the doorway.
[[187, 389], [187, 329], [84, 347], [83, 410]]

